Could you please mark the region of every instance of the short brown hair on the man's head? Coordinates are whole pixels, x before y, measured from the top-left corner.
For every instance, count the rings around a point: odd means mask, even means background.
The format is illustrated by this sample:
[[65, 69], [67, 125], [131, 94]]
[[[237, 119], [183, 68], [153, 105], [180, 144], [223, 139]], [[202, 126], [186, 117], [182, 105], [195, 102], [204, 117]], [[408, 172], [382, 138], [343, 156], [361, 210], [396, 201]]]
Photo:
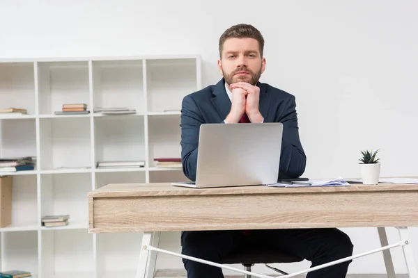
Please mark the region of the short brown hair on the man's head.
[[219, 57], [222, 58], [224, 42], [229, 38], [252, 38], [258, 41], [260, 56], [263, 58], [264, 39], [260, 31], [250, 24], [238, 24], [226, 29], [219, 38]]

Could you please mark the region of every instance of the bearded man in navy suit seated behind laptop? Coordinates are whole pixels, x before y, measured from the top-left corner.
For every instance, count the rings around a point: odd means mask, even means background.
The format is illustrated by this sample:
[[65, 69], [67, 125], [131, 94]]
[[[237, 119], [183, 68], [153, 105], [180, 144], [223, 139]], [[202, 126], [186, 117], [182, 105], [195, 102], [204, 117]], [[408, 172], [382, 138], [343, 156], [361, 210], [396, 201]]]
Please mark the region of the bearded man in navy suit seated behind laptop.
[[[228, 28], [219, 38], [217, 67], [222, 79], [184, 97], [180, 145], [183, 172], [190, 180], [196, 181], [199, 127], [205, 123], [281, 122], [283, 139], [277, 179], [303, 174], [307, 157], [300, 142], [295, 97], [259, 82], [265, 70], [263, 48], [263, 36], [254, 26], [238, 24]], [[181, 245], [182, 254], [215, 263], [251, 246], [274, 247], [295, 254], [311, 261], [312, 267], [353, 254], [350, 238], [339, 229], [183, 231]], [[309, 272], [307, 278], [346, 277], [350, 262]], [[221, 268], [187, 259], [183, 263], [188, 278], [224, 277]]]

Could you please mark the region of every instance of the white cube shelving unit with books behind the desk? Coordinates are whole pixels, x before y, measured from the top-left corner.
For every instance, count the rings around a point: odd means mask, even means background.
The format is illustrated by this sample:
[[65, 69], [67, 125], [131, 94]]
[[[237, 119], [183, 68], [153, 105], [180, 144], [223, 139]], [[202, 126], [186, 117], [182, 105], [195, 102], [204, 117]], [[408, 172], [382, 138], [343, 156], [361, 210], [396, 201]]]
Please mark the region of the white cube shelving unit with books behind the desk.
[[[36, 156], [14, 173], [12, 224], [0, 228], [0, 270], [33, 277], [134, 277], [141, 233], [88, 234], [87, 192], [108, 183], [187, 181], [181, 169], [155, 167], [180, 157], [181, 101], [201, 89], [199, 56], [0, 60], [0, 156]], [[87, 115], [55, 115], [85, 103]], [[102, 115], [95, 107], [127, 107]], [[145, 161], [141, 168], [97, 169], [98, 161]], [[70, 214], [65, 227], [41, 218]]]

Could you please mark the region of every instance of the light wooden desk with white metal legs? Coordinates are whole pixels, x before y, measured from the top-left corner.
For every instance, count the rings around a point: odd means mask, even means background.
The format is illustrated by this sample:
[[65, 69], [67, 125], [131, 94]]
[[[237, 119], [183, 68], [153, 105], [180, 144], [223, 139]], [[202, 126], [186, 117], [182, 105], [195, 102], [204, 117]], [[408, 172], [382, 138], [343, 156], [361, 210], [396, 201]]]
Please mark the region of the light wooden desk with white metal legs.
[[[403, 227], [418, 226], [417, 200], [418, 185], [412, 184], [208, 189], [170, 183], [109, 184], [88, 193], [88, 231], [142, 231], [143, 246], [151, 246], [160, 231], [380, 227], [382, 245], [387, 245], [384, 227], [399, 227], [401, 240], [406, 240], [408, 230]], [[418, 277], [406, 243], [410, 277]], [[137, 277], [152, 277], [155, 262], [144, 253], [148, 250], [142, 250], [140, 264], [148, 266], [139, 269]], [[394, 277], [389, 250], [384, 256], [389, 277]]]

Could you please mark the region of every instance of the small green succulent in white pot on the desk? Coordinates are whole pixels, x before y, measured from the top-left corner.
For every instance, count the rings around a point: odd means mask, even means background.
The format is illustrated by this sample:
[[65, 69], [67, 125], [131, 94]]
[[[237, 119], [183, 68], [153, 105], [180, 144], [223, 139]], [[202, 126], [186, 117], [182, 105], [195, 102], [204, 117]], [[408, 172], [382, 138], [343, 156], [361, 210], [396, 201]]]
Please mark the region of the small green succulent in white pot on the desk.
[[360, 172], [362, 174], [363, 184], [378, 184], [380, 177], [380, 158], [376, 158], [379, 150], [376, 152], [362, 151], [362, 158], [359, 159]]

